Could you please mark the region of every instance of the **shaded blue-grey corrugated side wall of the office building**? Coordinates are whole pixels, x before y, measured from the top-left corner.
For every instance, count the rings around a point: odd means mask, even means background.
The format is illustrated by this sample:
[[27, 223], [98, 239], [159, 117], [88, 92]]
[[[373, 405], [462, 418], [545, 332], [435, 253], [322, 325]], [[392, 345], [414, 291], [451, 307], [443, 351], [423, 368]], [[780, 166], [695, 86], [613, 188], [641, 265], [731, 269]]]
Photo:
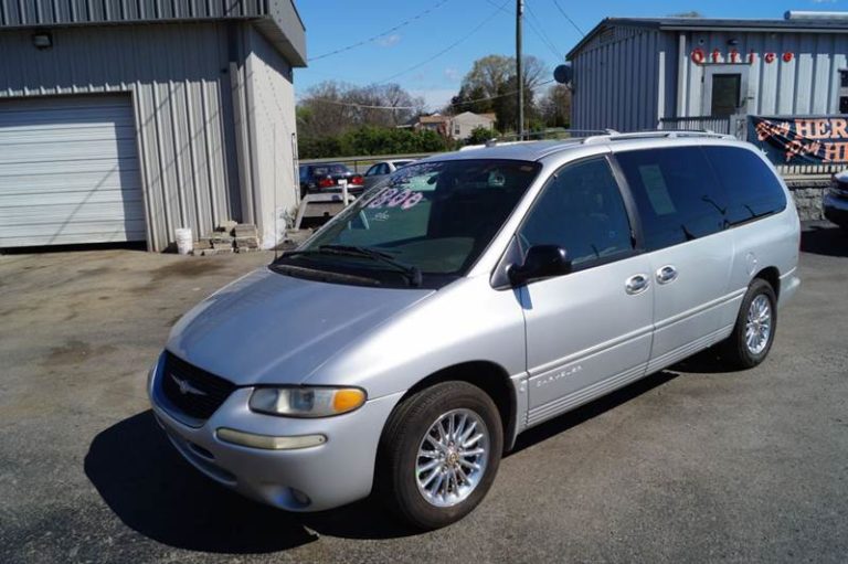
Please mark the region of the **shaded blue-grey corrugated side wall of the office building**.
[[656, 30], [616, 26], [601, 32], [572, 60], [574, 129], [654, 129], [670, 94], [668, 39]]

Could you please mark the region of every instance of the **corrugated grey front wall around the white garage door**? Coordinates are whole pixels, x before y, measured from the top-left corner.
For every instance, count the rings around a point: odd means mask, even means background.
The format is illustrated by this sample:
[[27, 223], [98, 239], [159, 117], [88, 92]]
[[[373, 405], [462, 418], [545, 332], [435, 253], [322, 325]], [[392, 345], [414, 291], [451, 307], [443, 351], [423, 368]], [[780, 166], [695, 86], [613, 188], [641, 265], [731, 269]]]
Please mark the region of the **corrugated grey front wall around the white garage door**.
[[176, 227], [202, 234], [241, 217], [224, 140], [223, 124], [232, 123], [224, 24], [52, 33], [45, 51], [33, 47], [29, 31], [0, 33], [0, 98], [131, 93], [151, 249], [165, 248]]

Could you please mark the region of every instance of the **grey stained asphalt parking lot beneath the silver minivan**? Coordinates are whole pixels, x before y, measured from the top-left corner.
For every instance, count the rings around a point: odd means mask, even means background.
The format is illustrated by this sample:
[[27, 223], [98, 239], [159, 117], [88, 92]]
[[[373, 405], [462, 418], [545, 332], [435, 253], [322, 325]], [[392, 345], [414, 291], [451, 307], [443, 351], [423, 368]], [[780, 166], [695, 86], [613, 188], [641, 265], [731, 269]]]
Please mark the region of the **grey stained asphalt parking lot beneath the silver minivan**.
[[170, 326], [269, 254], [1, 255], [0, 562], [846, 562], [848, 237], [807, 225], [803, 251], [764, 364], [703, 354], [537, 427], [424, 534], [374, 501], [244, 500], [155, 425]]

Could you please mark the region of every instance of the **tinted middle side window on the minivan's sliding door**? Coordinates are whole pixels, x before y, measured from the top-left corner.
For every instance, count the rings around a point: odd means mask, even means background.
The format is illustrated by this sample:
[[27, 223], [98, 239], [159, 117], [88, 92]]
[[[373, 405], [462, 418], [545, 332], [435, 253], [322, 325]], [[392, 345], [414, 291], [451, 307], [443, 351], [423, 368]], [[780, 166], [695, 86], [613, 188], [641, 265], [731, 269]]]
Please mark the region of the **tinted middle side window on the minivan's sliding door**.
[[699, 147], [616, 153], [655, 251], [722, 231], [727, 198]]

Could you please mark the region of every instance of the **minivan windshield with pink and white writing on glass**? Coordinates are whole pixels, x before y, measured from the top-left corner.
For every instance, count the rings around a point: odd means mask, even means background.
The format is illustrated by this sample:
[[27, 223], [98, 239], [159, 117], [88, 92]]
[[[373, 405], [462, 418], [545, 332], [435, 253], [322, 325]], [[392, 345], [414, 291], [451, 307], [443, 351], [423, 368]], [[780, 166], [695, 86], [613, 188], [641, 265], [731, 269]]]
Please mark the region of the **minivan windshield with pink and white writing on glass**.
[[381, 285], [441, 286], [470, 268], [540, 168], [495, 159], [410, 164], [275, 265], [337, 272]]

